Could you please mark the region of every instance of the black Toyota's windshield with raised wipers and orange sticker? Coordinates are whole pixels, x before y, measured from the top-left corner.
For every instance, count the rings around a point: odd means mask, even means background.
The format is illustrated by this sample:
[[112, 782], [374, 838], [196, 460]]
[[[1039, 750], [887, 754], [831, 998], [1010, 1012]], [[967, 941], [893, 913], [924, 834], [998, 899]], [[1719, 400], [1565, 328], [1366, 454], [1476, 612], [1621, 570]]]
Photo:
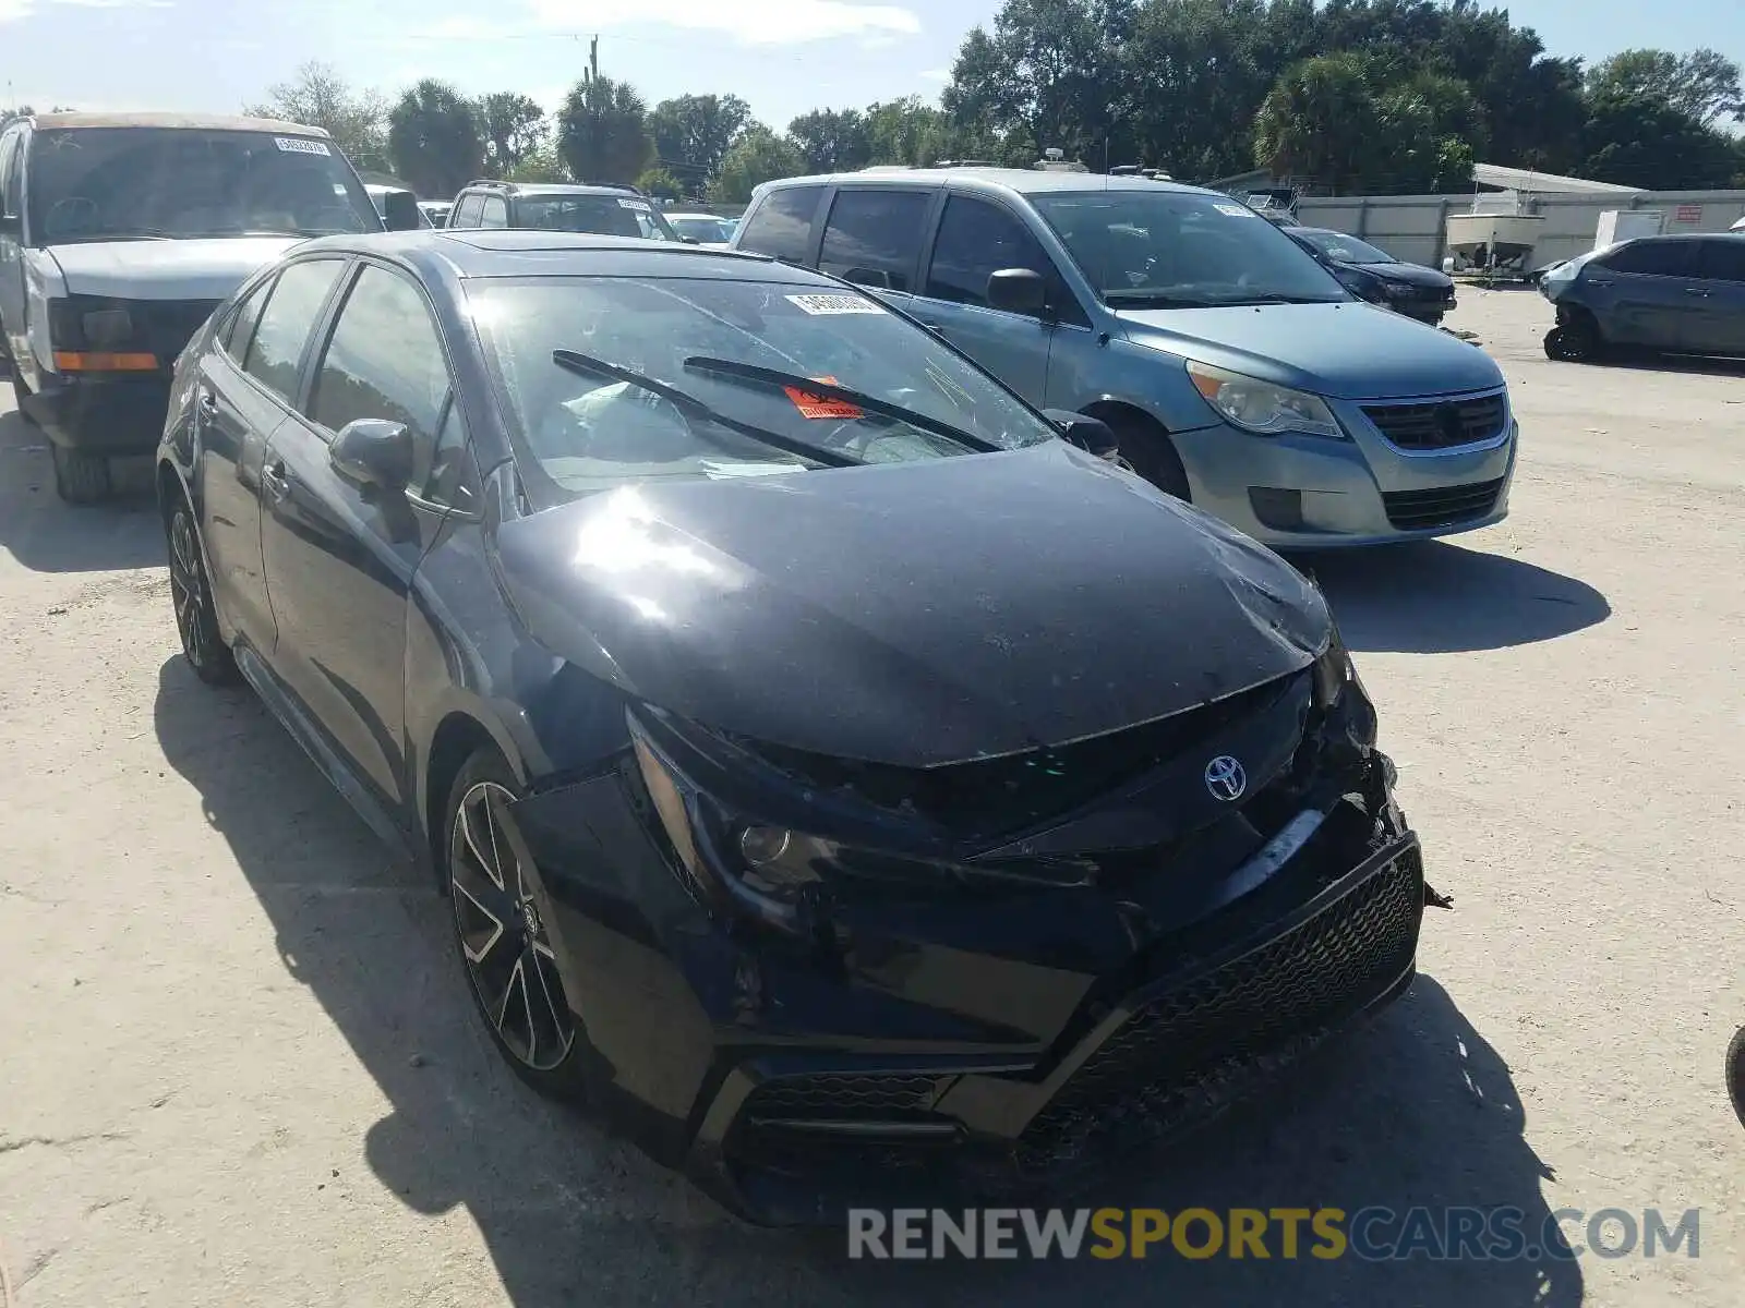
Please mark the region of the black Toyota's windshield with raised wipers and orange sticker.
[[[1057, 434], [932, 335], [852, 291], [701, 277], [476, 279], [468, 302], [520, 462], [557, 499], [626, 481], [946, 459]], [[578, 370], [576, 356], [619, 377]], [[682, 403], [625, 373], [684, 392]], [[790, 384], [806, 378], [881, 412]]]

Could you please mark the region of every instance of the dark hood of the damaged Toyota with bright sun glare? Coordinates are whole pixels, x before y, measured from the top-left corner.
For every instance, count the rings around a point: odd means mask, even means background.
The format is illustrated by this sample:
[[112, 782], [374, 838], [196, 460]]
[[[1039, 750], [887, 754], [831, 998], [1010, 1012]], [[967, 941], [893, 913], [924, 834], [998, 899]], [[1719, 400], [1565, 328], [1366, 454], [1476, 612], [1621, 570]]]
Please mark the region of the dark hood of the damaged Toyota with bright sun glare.
[[496, 528], [527, 628], [625, 692], [907, 767], [1195, 708], [1326, 645], [1319, 593], [1064, 441], [644, 483]]

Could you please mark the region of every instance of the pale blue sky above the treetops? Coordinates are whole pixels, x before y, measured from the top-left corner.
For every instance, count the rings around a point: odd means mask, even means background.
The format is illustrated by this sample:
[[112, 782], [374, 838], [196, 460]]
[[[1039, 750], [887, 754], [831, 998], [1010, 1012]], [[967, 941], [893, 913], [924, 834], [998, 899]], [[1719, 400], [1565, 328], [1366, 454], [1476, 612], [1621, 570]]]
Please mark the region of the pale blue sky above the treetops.
[[[232, 112], [307, 59], [396, 91], [441, 77], [553, 105], [600, 66], [649, 103], [735, 92], [785, 126], [817, 106], [935, 96], [998, 0], [0, 0], [5, 103]], [[1745, 61], [1745, 3], [1515, 0], [1558, 54], [1712, 45]]]

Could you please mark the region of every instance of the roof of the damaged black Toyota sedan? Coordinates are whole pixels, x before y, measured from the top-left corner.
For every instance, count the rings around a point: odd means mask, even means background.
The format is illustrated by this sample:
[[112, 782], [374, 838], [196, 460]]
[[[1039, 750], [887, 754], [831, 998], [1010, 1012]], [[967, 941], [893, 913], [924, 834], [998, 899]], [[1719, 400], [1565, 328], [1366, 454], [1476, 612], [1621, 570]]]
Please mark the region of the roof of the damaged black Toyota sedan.
[[295, 253], [379, 255], [424, 276], [455, 277], [715, 277], [841, 290], [832, 277], [778, 263], [768, 255], [710, 249], [630, 235], [586, 235], [515, 227], [365, 232], [305, 241]]

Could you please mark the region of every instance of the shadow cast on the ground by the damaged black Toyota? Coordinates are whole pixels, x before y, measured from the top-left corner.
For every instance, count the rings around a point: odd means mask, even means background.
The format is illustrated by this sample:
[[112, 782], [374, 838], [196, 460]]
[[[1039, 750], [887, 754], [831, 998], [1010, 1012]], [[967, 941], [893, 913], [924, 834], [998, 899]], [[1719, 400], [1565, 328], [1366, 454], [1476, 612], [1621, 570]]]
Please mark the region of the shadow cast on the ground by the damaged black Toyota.
[[[763, 1231], [579, 1113], [543, 1102], [497, 1060], [473, 1017], [426, 872], [396, 863], [248, 691], [211, 691], [180, 657], [162, 666], [157, 738], [201, 795], [272, 921], [286, 971], [323, 1006], [387, 1113], [363, 1149], [419, 1214], [464, 1207], [506, 1298], [588, 1303], [1105, 1305], [1581, 1301], [1574, 1263], [867, 1263], [841, 1231]], [[1426, 930], [1436, 930], [1431, 914]], [[1550, 1174], [1525, 1137], [1502, 1059], [1455, 1001], [1420, 977], [1370, 1025], [1167, 1155], [1134, 1162], [1091, 1207], [1515, 1207], [1546, 1221]], [[435, 1230], [435, 1228], [433, 1228]], [[286, 1238], [295, 1235], [286, 1233]]]

